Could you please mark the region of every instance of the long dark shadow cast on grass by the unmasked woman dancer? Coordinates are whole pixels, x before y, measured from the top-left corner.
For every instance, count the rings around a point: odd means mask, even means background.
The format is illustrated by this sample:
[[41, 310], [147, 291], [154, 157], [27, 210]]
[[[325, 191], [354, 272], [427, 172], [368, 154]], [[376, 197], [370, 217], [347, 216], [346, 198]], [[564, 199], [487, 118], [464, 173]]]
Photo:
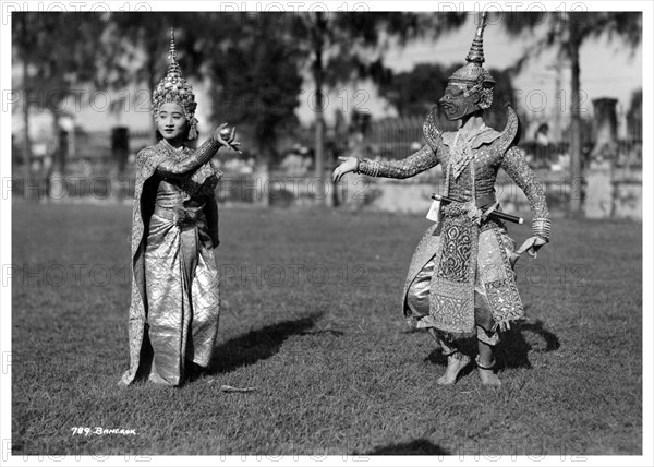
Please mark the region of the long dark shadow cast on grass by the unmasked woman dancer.
[[322, 315], [313, 313], [298, 320], [281, 321], [229, 339], [215, 349], [216, 357], [207, 374], [229, 373], [272, 357], [289, 337], [307, 334]]

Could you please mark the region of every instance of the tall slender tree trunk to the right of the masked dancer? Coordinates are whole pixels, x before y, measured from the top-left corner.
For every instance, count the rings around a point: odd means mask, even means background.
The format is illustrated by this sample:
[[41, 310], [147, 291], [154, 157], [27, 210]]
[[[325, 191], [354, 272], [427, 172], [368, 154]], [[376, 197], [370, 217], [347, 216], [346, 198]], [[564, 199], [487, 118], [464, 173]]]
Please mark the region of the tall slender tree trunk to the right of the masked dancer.
[[572, 16], [568, 22], [569, 27], [569, 56], [571, 72], [571, 108], [570, 108], [570, 206], [571, 217], [582, 214], [584, 180], [581, 170], [581, 116], [580, 116], [580, 86], [579, 86], [579, 25]]

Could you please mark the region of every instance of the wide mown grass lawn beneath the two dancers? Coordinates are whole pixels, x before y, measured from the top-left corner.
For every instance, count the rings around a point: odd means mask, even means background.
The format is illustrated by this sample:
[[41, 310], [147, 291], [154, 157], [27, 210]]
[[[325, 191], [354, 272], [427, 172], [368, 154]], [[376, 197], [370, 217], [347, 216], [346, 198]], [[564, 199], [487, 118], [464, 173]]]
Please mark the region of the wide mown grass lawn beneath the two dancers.
[[14, 455], [641, 454], [640, 224], [561, 219], [518, 262], [529, 320], [492, 390], [437, 386], [444, 358], [404, 324], [424, 217], [226, 208], [211, 373], [121, 390], [130, 207], [13, 212]]

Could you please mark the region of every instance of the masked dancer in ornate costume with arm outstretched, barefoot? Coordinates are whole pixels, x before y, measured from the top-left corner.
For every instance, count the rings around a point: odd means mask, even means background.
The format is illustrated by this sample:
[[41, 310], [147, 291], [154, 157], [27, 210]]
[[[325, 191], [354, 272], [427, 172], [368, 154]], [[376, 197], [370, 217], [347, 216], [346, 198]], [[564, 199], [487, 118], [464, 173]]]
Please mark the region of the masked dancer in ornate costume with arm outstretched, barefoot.
[[[372, 177], [409, 178], [440, 164], [445, 195], [455, 202], [439, 208], [439, 221], [427, 229], [417, 246], [403, 292], [403, 311], [419, 328], [426, 328], [448, 356], [439, 384], [453, 384], [472, 358], [463, 350], [476, 337], [475, 359], [482, 383], [498, 386], [493, 348], [499, 331], [524, 318], [513, 265], [522, 252], [535, 258], [549, 241], [549, 213], [543, 184], [534, 177], [516, 146], [518, 118], [508, 107], [500, 133], [484, 123], [484, 109], [493, 101], [495, 81], [482, 67], [485, 14], [467, 64], [448, 81], [439, 104], [448, 120], [461, 120], [456, 132], [440, 132], [432, 109], [424, 123], [427, 144], [402, 160], [375, 161], [342, 158], [335, 181], [350, 171]], [[499, 211], [495, 196], [497, 171], [502, 168], [525, 193], [533, 216], [533, 237], [516, 251], [504, 223], [491, 215]]]

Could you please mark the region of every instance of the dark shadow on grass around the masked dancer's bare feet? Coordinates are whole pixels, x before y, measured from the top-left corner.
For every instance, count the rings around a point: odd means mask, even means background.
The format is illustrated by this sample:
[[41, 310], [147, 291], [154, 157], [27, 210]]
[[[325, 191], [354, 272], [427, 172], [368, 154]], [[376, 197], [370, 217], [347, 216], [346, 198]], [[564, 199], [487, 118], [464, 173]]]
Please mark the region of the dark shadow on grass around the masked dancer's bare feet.
[[[534, 347], [534, 345], [530, 344], [525, 336], [533, 335], [536, 342], [542, 342], [543, 345], [538, 345]], [[533, 338], [530, 338], [532, 343]], [[558, 337], [543, 327], [543, 322], [541, 320], [536, 320], [533, 323], [522, 323], [519, 324], [511, 330], [502, 333], [501, 340], [496, 347], [495, 357], [497, 358], [497, 369], [506, 369], [506, 368], [532, 368], [531, 362], [529, 361], [529, 354], [532, 351], [536, 352], [549, 352], [557, 350], [561, 346]], [[476, 354], [476, 342], [469, 340], [465, 342], [463, 346], [463, 351], [469, 355]], [[443, 356], [439, 349], [433, 350], [426, 358], [425, 361], [429, 361], [432, 363], [439, 364], [441, 367], [447, 367], [447, 358]], [[464, 376], [470, 371], [472, 371], [472, 367], [467, 367], [463, 370], [461, 376]]]

